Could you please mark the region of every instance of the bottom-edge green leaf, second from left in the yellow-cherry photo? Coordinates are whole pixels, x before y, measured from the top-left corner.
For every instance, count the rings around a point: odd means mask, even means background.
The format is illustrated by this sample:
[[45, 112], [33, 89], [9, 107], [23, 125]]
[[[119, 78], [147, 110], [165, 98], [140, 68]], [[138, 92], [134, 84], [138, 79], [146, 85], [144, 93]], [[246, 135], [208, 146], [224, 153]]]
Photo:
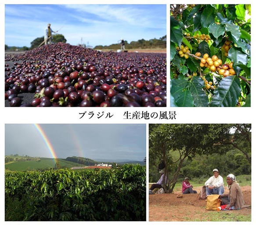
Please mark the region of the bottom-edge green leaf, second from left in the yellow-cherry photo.
[[193, 76], [190, 83], [190, 92], [194, 99], [194, 105], [196, 107], [209, 106], [209, 99], [203, 90], [205, 86], [204, 80], [199, 76]]

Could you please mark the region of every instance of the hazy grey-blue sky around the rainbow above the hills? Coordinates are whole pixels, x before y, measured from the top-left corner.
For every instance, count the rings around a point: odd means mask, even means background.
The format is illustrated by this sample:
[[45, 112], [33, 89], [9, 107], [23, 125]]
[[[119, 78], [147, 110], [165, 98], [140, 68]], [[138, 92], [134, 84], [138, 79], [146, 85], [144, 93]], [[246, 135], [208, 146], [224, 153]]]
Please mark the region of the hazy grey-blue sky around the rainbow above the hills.
[[[129, 159], [146, 157], [145, 124], [40, 124], [57, 158]], [[5, 155], [52, 158], [33, 124], [5, 125]]]

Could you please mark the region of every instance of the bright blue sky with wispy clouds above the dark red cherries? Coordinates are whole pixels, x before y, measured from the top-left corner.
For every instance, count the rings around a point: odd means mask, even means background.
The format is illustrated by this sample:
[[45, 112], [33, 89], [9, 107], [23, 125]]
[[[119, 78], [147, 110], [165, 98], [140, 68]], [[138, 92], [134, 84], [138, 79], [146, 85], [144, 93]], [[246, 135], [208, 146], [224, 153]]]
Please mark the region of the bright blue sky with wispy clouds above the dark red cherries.
[[44, 35], [47, 24], [65, 36], [67, 43], [110, 45], [166, 35], [166, 5], [5, 5], [5, 44], [30, 47]]

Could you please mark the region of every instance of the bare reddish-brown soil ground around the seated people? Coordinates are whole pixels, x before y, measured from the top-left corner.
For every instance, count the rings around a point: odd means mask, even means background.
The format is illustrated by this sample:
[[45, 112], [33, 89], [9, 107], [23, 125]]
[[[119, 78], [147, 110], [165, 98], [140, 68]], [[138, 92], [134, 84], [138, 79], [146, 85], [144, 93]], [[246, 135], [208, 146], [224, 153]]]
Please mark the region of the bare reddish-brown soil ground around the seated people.
[[[220, 212], [206, 210], [206, 201], [205, 199], [199, 200], [198, 194], [186, 194], [182, 195], [182, 198], [177, 198], [181, 191], [174, 191], [173, 194], [149, 195], [149, 221], [209, 221], [208, 216], [216, 213], [225, 214], [227, 217], [231, 214], [250, 216], [251, 186], [241, 188], [245, 208]], [[193, 189], [200, 192], [201, 187], [194, 187]], [[228, 191], [225, 189], [226, 192]]]

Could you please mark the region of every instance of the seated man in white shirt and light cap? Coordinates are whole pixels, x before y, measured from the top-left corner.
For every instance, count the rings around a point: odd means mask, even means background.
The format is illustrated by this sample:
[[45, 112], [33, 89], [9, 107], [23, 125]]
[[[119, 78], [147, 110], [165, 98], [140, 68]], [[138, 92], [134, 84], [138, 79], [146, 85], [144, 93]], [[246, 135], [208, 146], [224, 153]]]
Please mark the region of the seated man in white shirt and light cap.
[[222, 195], [224, 193], [223, 177], [219, 175], [218, 169], [213, 169], [213, 176], [206, 180], [206, 196]]

